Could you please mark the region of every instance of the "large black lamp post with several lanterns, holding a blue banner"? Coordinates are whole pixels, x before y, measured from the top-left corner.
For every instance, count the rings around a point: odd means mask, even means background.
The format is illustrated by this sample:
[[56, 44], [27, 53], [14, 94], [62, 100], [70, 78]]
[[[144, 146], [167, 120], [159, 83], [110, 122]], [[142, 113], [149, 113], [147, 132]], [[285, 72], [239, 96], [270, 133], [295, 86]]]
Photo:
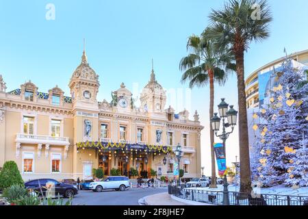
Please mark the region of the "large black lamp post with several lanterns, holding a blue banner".
[[[211, 118], [211, 128], [215, 132], [215, 136], [220, 138], [223, 142], [224, 157], [226, 157], [226, 140], [229, 138], [230, 134], [233, 133], [236, 121], [238, 118], [238, 112], [233, 109], [233, 105], [230, 105], [230, 110], [228, 111], [229, 104], [224, 102], [224, 98], [221, 99], [221, 103], [218, 105], [218, 112], [220, 118], [217, 116], [217, 113], [214, 114], [214, 117]], [[226, 121], [227, 118], [227, 121]], [[222, 133], [218, 135], [220, 128], [220, 121], [222, 120]], [[231, 131], [227, 132], [226, 128], [231, 127]], [[224, 205], [230, 205], [229, 201], [229, 191], [228, 191], [228, 182], [227, 175], [224, 175]]]

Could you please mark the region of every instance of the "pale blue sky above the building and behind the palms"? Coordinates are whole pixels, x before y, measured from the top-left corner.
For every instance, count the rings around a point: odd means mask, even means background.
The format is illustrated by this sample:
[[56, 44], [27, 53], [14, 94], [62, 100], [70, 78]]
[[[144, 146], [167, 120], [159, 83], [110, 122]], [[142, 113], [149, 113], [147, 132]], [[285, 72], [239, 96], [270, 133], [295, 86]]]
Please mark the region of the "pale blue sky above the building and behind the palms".
[[[47, 21], [47, 3], [55, 5], [55, 21]], [[179, 60], [186, 55], [190, 34], [200, 34], [208, 24], [211, 8], [218, 0], [116, 0], [116, 1], [0, 1], [0, 73], [8, 91], [31, 79], [47, 92], [55, 84], [69, 95], [71, 74], [81, 60], [83, 38], [90, 66], [100, 76], [99, 101], [110, 101], [110, 92], [125, 82], [139, 90], [149, 80], [151, 58], [159, 83], [166, 89], [187, 88], [179, 83]], [[274, 21], [272, 34], [262, 43], [251, 44], [246, 53], [246, 76], [260, 66], [288, 53], [308, 49], [308, 1], [269, 1]], [[220, 97], [237, 105], [236, 77], [223, 88]], [[205, 126], [202, 137], [203, 166], [209, 174], [208, 103], [209, 88], [192, 90], [191, 110], [198, 110]], [[167, 106], [166, 106], [167, 107]], [[235, 108], [238, 108], [235, 106]], [[175, 106], [176, 110], [183, 107]], [[191, 112], [191, 115], [193, 112]], [[227, 159], [238, 154], [238, 133], [227, 142]]]

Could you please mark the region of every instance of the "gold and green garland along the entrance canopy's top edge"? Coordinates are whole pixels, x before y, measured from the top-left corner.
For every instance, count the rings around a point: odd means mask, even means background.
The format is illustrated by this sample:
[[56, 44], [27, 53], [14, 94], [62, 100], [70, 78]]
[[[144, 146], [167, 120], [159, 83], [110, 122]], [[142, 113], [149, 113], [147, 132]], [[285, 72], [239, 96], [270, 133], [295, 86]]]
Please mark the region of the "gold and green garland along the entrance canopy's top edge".
[[126, 149], [126, 150], [142, 150], [145, 152], [170, 153], [172, 146], [151, 145], [151, 144], [126, 144], [122, 142], [78, 142], [77, 149], [93, 148], [93, 149]]

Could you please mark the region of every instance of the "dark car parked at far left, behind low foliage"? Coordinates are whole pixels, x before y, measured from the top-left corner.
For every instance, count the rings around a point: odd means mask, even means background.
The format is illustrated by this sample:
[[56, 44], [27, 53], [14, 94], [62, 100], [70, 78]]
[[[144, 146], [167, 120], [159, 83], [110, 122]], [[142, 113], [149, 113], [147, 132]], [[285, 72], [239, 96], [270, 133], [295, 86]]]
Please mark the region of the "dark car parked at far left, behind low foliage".
[[64, 198], [73, 197], [78, 194], [77, 186], [72, 184], [60, 183], [55, 179], [34, 179], [31, 181], [27, 181], [25, 183], [25, 188], [34, 190], [38, 192], [38, 194], [44, 194], [46, 192], [46, 184], [54, 183], [55, 185], [55, 196], [60, 194], [60, 196], [64, 196]]

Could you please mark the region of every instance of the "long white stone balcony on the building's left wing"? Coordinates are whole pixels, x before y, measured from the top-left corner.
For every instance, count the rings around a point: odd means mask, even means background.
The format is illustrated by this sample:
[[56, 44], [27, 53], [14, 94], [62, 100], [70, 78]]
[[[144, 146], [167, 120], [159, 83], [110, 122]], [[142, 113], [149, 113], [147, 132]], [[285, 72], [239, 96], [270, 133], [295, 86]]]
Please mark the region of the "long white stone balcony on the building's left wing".
[[38, 136], [29, 134], [16, 134], [15, 142], [21, 144], [70, 145], [68, 137]]

